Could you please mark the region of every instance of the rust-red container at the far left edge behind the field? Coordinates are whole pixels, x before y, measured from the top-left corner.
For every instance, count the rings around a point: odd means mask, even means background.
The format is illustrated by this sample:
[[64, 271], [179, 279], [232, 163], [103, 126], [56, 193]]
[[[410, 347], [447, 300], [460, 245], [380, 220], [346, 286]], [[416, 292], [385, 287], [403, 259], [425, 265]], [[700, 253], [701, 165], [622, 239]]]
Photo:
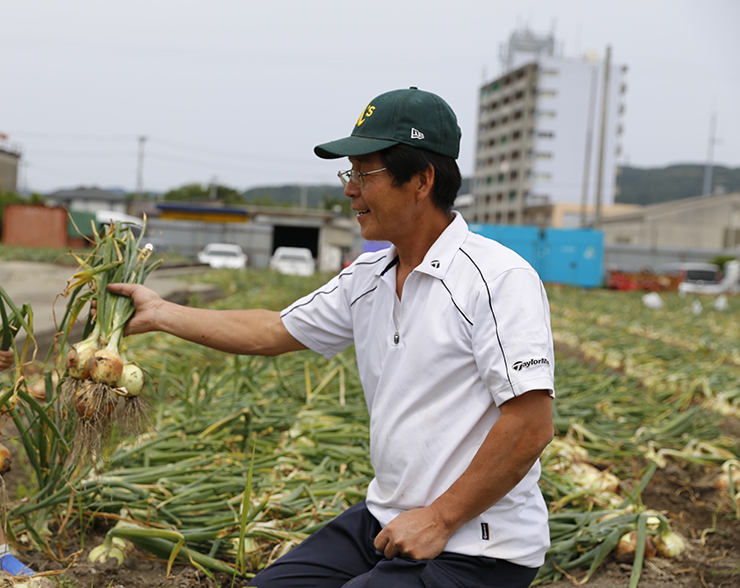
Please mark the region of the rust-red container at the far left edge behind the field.
[[26, 247], [66, 247], [67, 211], [61, 207], [8, 205], [3, 212], [3, 243]]

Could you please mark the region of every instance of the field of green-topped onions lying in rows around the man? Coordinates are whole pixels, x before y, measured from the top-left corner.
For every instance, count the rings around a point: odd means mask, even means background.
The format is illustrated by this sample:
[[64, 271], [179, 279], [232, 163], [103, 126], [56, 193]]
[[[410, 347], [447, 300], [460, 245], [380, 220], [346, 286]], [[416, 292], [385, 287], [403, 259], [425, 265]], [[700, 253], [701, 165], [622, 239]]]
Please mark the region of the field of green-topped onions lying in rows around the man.
[[[212, 307], [279, 310], [327, 276], [201, 279], [225, 293]], [[740, 585], [740, 299], [663, 293], [653, 309], [639, 292], [547, 290], [557, 435], [542, 456], [552, 547], [535, 584]], [[5, 505], [6, 528], [48, 569], [155, 557], [166, 573], [190, 566], [243, 586], [363, 499], [373, 472], [352, 349], [237, 357], [149, 334], [123, 350], [147, 376], [145, 430], [111, 434], [92, 459], [72, 451], [66, 350], [0, 376], [18, 431], [7, 441], [31, 474]], [[673, 478], [687, 504], [651, 503]], [[700, 490], [713, 519], [689, 528], [681, 513]]]

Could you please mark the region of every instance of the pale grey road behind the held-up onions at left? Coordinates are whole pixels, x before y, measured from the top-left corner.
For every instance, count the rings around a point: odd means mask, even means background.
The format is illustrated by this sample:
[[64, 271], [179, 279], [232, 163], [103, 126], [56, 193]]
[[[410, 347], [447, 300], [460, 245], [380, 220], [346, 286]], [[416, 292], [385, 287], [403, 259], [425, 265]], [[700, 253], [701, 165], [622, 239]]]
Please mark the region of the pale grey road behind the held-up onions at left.
[[[203, 266], [158, 268], [147, 278], [146, 285], [162, 298], [179, 303], [187, 302], [189, 294], [197, 293], [201, 300], [214, 299], [220, 291], [207, 284], [198, 284], [184, 279], [204, 271]], [[56, 324], [62, 319], [67, 300], [61, 296], [75, 268], [52, 263], [0, 261], [0, 286], [11, 300], [20, 306], [31, 303], [33, 309], [33, 331], [40, 348], [56, 332]], [[23, 337], [19, 335], [20, 342]], [[43, 359], [45, 352], [37, 355]]]

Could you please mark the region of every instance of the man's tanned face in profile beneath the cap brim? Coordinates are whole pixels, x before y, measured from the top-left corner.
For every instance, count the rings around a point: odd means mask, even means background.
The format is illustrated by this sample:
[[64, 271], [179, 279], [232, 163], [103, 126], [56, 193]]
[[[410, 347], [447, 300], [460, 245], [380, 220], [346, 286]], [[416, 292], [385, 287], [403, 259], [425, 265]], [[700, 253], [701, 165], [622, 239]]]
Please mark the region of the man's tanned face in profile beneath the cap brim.
[[[371, 172], [385, 167], [377, 153], [350, 157], [357, 173]], [[344, 194], [352, 198], [352, 210], [357, 214], [360, 233], [368, 241], [390, 241], [396, 246], [413, 233], [415, 199], [408, 182], [394, 186], [392, 176], [383, 171], [362, 177], [362, 187], [350, 181]]]

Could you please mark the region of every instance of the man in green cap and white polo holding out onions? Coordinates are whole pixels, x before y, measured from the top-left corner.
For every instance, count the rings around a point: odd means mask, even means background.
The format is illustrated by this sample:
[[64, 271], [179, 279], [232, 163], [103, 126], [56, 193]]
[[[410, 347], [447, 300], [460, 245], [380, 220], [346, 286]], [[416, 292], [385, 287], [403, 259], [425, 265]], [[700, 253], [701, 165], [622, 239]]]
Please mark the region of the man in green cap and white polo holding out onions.
[[175, 306], [140, 286], [128, 333], [163, 330], [230, 353], [350, 344], [375, 478], [355, 505], [252, 582], [259, 588], [526, 587], [548, 548], [538, 457], [553, 435], [542, 283], [452, 211], [460, 129], [440, 97], [382, 94], [350, 137], [316, 147], [362, 236], [392, 243], [282, 313]]

